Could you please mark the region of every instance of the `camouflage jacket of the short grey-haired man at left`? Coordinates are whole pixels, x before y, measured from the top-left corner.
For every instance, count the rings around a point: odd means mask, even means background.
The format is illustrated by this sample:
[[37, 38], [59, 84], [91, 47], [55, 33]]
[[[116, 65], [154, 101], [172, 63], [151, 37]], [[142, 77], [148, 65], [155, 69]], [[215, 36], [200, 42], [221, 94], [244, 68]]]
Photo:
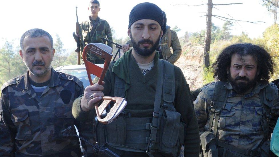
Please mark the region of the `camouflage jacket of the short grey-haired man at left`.
[[[53, 68], [40, 97], [29, 84], [28, 71], [6, 82], [0, 99], [0, 156], [81, 156], [79, 139], [60, 132], [75, 125], [81, 136], [93, 138], [92, 133], [83, 134], [90, 128], [71, 112], [73, 101], [83, 92], [78, 78]], [[75, 129], [70, 134], [76, 134]]]

